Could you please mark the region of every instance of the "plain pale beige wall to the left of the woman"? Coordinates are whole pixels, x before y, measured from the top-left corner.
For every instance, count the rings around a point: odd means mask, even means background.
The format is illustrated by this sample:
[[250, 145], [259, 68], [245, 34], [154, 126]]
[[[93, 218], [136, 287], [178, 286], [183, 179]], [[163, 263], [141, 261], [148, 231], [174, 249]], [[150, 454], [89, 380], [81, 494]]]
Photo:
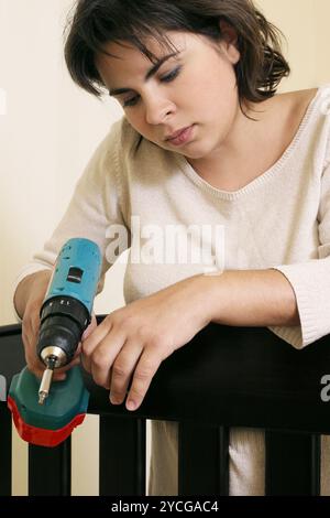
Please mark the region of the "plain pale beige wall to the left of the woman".
[[[14, 322], [10, 290], [18, 269], [48, 237], [88, 158], [121, 116], [114, 101], [94, 99], [68, 77], [62, 31], [72, 3], [0, 0], [0, 88], [7, 91], [7, 115], [0, 116], [0, 324]], [[123, 302], [113, 292], [110, 305]], [[97, 310], [103, 311], [100, 300]]]

